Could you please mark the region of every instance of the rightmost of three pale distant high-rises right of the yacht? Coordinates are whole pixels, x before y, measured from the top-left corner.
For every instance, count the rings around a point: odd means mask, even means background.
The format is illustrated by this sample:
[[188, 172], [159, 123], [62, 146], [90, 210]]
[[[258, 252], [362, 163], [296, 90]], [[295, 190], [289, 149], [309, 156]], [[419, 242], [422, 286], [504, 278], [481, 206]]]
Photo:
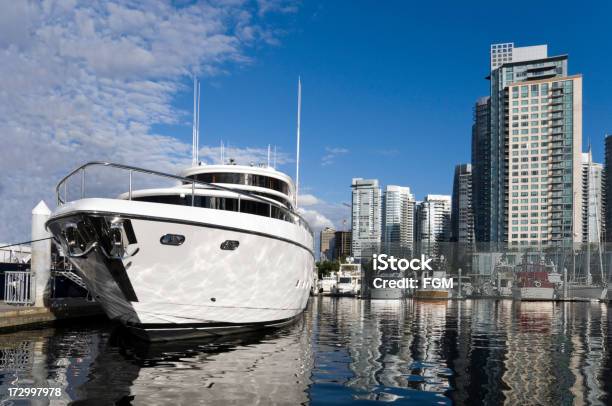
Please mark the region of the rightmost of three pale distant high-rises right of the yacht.
[[439, 258], [450, 241], [451, 197], [427, 195], [417, 204], [416, 248], [417, 254]]

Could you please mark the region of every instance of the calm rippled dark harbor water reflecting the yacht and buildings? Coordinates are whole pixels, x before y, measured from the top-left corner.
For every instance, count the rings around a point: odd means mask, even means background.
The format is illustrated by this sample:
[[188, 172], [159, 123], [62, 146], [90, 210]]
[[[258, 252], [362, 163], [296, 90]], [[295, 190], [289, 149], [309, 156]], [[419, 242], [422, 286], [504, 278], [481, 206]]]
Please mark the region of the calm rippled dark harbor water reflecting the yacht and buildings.
[[0, 335], [8, 388], [50, 404], [611, 404], [607, 304], [312, 298], [256, 334], [142, 345], [90, 322]]

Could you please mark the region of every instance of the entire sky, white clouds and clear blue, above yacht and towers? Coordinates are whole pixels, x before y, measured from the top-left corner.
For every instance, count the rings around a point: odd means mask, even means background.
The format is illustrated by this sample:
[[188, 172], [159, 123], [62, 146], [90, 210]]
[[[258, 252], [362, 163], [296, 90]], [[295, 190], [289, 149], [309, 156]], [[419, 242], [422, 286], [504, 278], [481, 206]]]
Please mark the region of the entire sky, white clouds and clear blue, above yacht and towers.
[[410, 186], [417, 199], [451, 193], [454, 165], [470, 160], [474, 102], [489, 92], [491, 43], [569, 54], [584, 75], [585, 143], [601, 161], [611, 3], [466, 4], [0, 2], [0, 241], [26, 240], [31, 208], [53, 208], [57, 181], [86, 161], [188, 165], [194, 71], [201, 146], [223, 140], [259, 160], [272, 144], [284, 162], [301, 75], [300, 184], [315, 228], [350, 218], [353, 177]]

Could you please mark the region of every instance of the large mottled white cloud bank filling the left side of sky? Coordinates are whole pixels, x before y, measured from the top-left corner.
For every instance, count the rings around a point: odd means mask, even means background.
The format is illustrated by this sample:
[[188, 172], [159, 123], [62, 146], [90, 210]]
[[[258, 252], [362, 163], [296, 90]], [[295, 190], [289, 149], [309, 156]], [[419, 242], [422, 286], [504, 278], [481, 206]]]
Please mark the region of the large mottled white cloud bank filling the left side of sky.
[[53, 207], [55, 183], [83, 162], [187, 165], [190, 146], [151, 126], [188, 114], [171, 104], [186, 75], [224, 74], [277, 40], [260, 11], [233, 0], [0, 3], [0, 240], [27, 240], [31, 208]]

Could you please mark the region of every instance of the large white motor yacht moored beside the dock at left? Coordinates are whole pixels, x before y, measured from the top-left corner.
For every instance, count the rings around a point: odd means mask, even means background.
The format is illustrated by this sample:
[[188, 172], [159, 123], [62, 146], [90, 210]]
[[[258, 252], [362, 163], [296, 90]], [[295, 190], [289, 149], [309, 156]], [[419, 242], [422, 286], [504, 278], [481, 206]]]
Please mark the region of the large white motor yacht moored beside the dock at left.
[[[85, 198], [92, 166], [126, 171], [128, 192]], [[176, 184], [132, 190], [134, 173]], [[68, 201], [74, 177], [81, 193]], [[54, 240], [108, 316], [144, 338], [279, 326], [306, 307], [313, 234], [296, 212], [293, 181], [269, 166], [196, 165], [176, 176], [91, 162], [56, 190]]]

